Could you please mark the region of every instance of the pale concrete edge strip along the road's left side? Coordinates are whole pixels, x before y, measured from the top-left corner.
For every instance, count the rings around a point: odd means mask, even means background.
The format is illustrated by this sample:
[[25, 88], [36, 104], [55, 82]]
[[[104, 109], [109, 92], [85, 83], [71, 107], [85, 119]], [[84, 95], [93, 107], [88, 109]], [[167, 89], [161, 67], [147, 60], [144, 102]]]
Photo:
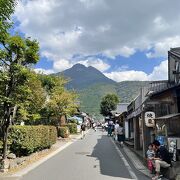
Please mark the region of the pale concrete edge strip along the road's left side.
[[[89, 133], [89, 131], [90, 131], [90, 129], [86, 132], [86, 134]], [[25, 174], [27, 174], [28, 172], [32, 171], [33, 169], [35, 169], [36, 167], [38, 167], [39, 165], [41, 165], [42, 163], [44, 163], [48, 159], [52, 158], [53, 156], [55, 156], [56, 154], [58, 154], [62, 150], [66, 149], [68, 146], [70, 146], [71, 144], [73, 144], [74, 142], [76, 142], [79, 139], [81, 139], [81, 134], [78, 135], [77, 137], [71, 139], [70, 142], [66, 142], [64, 145], [59, 147], [57, 150], [51, 152], [50, 154], [48, 154], [46, 157], [38, 160], [37, 162], [34, 162], [34, 163], [30, 164], [29, 166], [25, 167], [24, 169], [20, 170], [19, 172], [15, 173], [13, 175], [0, 176], [0, 179], [2, 179], [2, 180], [19, 179], [20, 177], [22, 177]]]

